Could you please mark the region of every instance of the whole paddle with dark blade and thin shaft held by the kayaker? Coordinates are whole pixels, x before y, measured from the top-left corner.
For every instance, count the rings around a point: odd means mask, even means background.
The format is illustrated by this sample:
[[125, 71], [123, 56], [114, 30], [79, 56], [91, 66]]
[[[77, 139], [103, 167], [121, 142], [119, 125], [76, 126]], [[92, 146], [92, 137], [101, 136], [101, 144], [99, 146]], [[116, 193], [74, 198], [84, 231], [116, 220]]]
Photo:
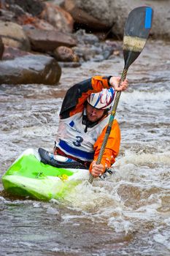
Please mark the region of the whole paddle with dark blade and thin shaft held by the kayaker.
[[[150, 29], [152, 25], [152, 8], [151, 7], [137, 7], [132, 10], [128, 19], [125, 23], [124, 37], [123, 37], [123, 56], [124, 56], [124, 69], [120, 79], [120, 83], [125, 80], [128, 72], [128, 68], [139, 56], [147, 42], [147, 37], [149, 36]], [[101, 163], [101, 159], [104, 154], [104, 149], [107, 145], [107, 140], [109, 138], [110, 131], [112, 129], [112, 123], [115, 118], [115, 113], [117, 110], [117, 105], [120, 99], [121, 91], [117, 91], [115, 102], [112, 107], [112, 112], [109, 118], [109, 123], [107, 127], [106, 134], [104, 136], [104, 141], [101, 146], [100, 153], [96, 164]], [[92, 184], [93, 176], [90, 174], [89, 182]]]

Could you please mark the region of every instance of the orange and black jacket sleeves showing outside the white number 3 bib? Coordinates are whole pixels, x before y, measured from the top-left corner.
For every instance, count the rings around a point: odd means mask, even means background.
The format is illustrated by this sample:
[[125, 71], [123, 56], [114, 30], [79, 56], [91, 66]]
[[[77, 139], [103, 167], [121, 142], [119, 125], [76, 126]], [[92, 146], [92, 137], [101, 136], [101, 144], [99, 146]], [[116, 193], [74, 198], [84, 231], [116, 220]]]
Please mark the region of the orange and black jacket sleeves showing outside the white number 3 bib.
[[[95, 76], [84, 80], [80, 83], [72, 86], [67, 92], [63, 99], [63, 104], [61, 106], [60, 118], [68, 118], [76, 113], [83, 112], [85, 108], [85, 102], [87, 97], [91, 93], [97, 93], [102, 89], [109, 89], [109, 79], [111, 77], [101, 77]], [[101, 149], [102, 142], [104, 140], [104, 135], [107, 130], [107, 126], [101, 131], [96, 143], [94, 144], [94, 160], [98, 158], [99, 151]], [[107, 140], [107, 146], [104, 150], [104, 154], [101, 160], [101, 164], [106, 167], [110, 167], [115, 162], [115, 157], [119, 152], [120, 148], [120, 128], [116, 120], [113, 121], [112, 129]], [[90, 166], [91, 169], [91, 166]]]

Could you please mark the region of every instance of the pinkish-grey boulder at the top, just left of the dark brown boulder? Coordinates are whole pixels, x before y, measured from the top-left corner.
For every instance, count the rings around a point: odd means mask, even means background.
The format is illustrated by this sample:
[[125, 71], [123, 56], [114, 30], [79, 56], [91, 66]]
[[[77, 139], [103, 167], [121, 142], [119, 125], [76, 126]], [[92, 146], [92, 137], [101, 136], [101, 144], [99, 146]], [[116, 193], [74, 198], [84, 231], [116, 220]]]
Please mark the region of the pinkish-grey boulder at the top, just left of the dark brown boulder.
[[47, 22], [52, 24], [58, 31], [69, 33], [73, 31], [74, 20], [72, 16], [69, 12], [66, 12], [55, 4], [46, 2], [45, 10], [43, 10], [40, 17], [47, 20]]

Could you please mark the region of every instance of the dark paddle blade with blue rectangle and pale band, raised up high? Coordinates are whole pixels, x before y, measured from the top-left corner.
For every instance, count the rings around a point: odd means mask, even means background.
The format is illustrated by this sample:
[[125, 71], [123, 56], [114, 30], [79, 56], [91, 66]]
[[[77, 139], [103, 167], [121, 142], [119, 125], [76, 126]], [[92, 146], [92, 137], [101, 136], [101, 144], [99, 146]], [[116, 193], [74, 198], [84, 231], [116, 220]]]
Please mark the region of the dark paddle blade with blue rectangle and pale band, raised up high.
[[152, 26], [152, 14], [151, 7], [137, 7], [128, 15], [123, 37], [125, 69], [135, 61], [147, 42]]

